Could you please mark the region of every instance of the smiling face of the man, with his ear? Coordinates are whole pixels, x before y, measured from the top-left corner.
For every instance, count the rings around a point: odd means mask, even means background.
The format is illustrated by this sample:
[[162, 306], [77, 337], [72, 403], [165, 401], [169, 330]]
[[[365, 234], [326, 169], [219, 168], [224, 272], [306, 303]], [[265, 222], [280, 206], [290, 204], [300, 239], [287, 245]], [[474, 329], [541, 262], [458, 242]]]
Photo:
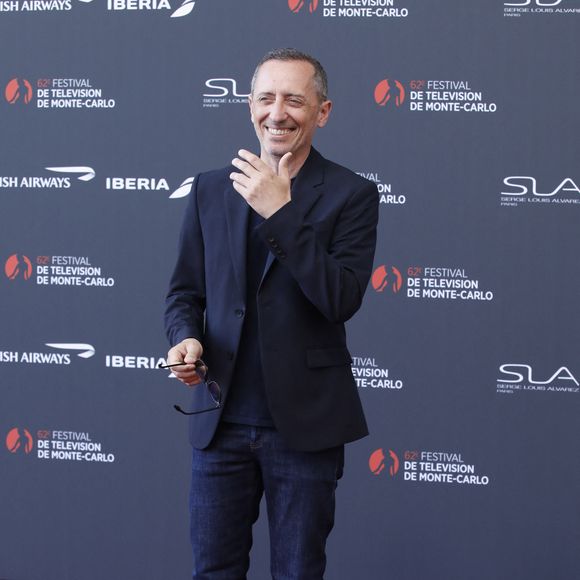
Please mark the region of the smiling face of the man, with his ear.
[[332, 107], [330, 101], [320, 102], [314, 67], [306, 61], [265, 62], [249, 101], [263, 159], [279, 159], [289, 151], [296, 160], [306, 159], [314, 132], [326, 125]]

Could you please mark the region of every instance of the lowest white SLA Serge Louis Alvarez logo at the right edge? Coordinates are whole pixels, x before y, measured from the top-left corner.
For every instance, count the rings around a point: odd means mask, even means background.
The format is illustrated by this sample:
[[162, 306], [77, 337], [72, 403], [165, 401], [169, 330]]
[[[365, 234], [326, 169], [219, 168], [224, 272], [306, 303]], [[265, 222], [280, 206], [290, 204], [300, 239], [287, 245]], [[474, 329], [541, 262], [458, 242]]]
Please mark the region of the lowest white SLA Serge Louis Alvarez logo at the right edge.
[[580, 383], [568, 367], [550, 369], [540, 373], [532, 365], [522, 363], [504, 363], [499, 367], [496, 381], [498, 393], [513, 395], [523, 392], [574, 393], [580, 392]]

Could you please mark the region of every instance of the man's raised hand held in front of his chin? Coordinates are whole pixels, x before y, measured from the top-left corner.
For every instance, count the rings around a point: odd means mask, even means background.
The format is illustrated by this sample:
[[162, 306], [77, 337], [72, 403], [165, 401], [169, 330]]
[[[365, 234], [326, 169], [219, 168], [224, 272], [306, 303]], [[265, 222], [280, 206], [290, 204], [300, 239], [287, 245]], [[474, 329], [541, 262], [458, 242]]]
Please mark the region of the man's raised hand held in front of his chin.
[[291, 199], [288, 163], [292, 153], [280, 159], [278, 173], [245, 149], [240, 149], [238, 155], [232, 165], [241, 173], [230, 173], [232, 185], [256, 213], [268, 219]]

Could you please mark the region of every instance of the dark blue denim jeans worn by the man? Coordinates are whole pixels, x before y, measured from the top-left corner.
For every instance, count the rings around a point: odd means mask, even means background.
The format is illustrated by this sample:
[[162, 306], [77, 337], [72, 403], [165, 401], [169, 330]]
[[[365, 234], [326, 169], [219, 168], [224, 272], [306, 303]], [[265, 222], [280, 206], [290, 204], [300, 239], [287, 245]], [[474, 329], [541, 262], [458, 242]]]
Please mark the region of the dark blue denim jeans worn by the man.
[[274, 429], [220, 425], [207, 449], [193, 450], [193, 578], [246, 578], [252, 525], [265, 493], [272, 578], [321, 580], [343, 464], [342, 445], [294, 451]]

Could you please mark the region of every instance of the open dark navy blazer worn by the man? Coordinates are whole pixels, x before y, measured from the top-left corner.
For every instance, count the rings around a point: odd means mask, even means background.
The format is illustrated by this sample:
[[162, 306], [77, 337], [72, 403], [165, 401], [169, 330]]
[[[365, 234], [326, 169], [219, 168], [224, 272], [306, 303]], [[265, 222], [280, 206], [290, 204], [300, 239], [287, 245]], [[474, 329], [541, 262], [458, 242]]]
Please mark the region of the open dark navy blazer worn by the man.
[[[170, 344], [198, 339], [210, 378], [228, 396], [246, 308], [249, 206], [227, 167], [200, 174], [185, 212], [166, 300]], [[258, 231], [269, 248], [257, 294], [268, 406], [294, 449], [327, 449], [365, 436], [344, 322], [360, 307], [373, 264], [376, 186], [311, 153], [292, 201]], [[211, 406], [193, 390], [193, 409]], [[190, 440], [211, 442], [221, 411], [193, 416]]]

